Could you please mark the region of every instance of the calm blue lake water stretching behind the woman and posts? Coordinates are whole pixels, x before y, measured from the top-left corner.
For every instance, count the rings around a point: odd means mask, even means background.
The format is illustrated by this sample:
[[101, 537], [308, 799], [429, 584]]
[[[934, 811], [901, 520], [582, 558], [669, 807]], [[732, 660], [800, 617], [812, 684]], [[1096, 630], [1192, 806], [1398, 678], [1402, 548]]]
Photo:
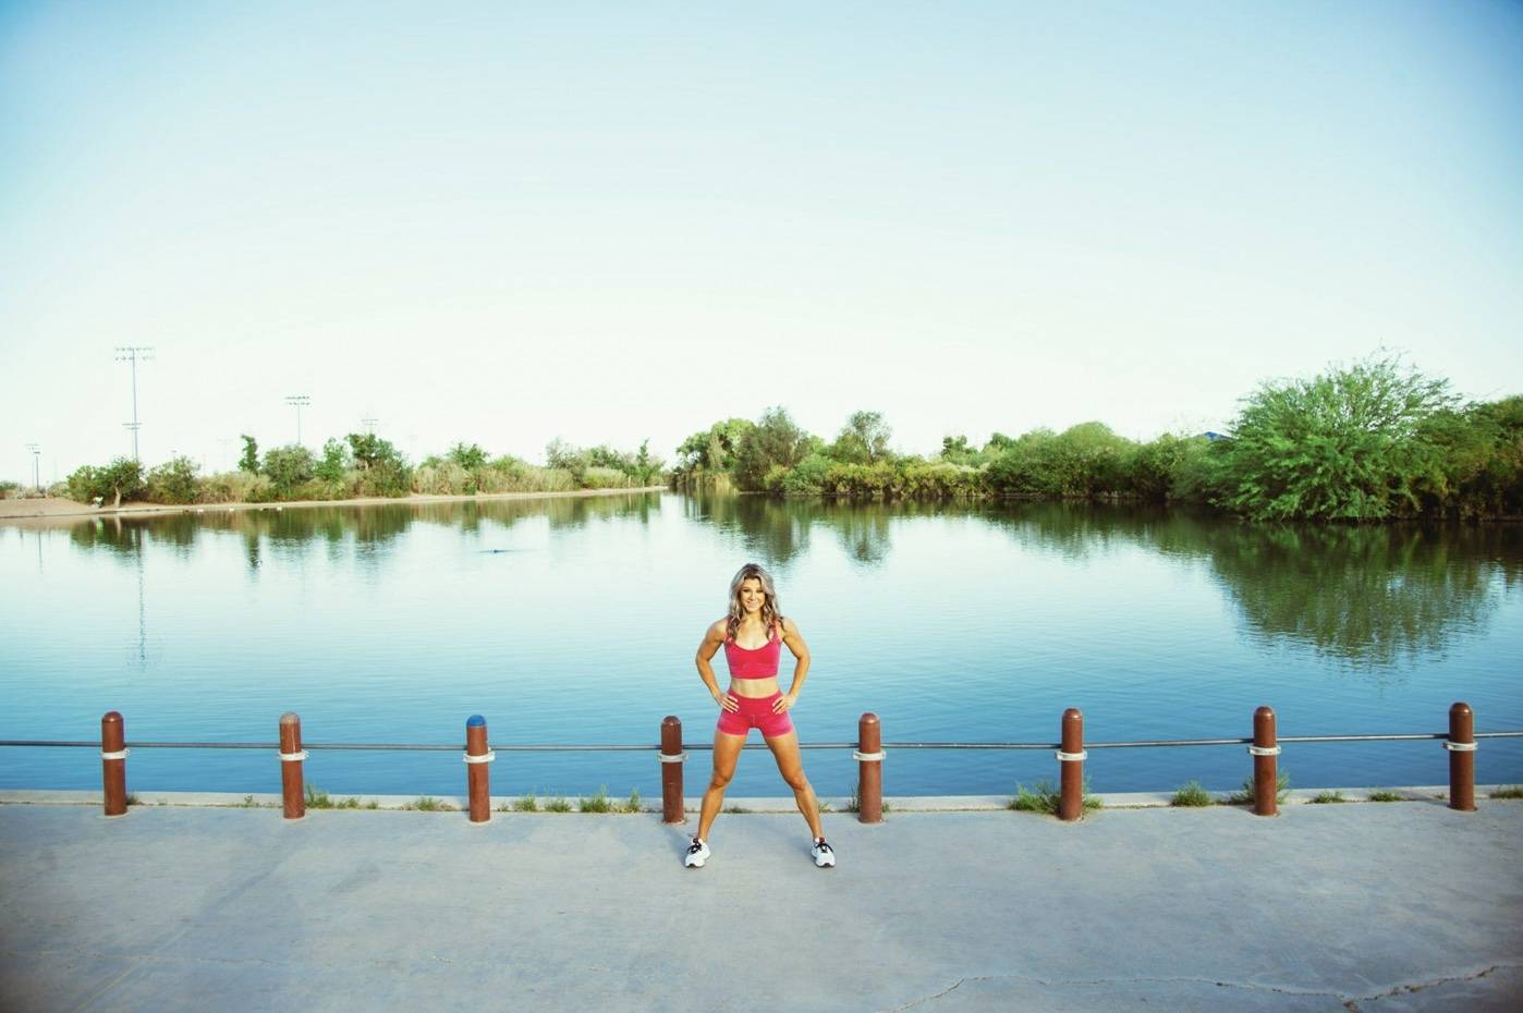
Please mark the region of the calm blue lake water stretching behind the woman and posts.
[[[0, 737], [708, 742], [693, 669], [745, 561], [768, 565], [813, 652], [801, 739], [1054, 740], [1424, 733], [1468, 701], [1523, 728], [1523, 529], [1293, 529], [1132, 507], [885, 507], [621, 495], [178, 515], [0, 527]], [[784, 672], [789, 672], [784, 652]], [[716, 667], [723, 672], [722, 658]], [[786, 678], [784, 678], [786, 685]], [[760, 739], [752, 734], [760, 746]], [[1287, 746], [1298, 786], [1442, 783], [1438, 743]], [[688, 763], [688, 794], [708, 754]], [[1482, 781], [1523, 780], [1523, 740]], [[806, 753], [847, 794], [845, 751]], [[1097, 751], [1095, 791], [1235, 788], [1241, 746]], [[0, 749], [0, 786], [97, 788], [87, 749]], [[463, 792], [457, 753], [314, 753], [337, 794]], [[886, 794], [1010, 794], [1051, 753], [891, 753]], [[134, 791], [279, 789], [265, 753], [139, 749]], [[493, 794], [659, 795], [652, 754], [500, 754]], [[734, 795], [786, 794], [760, 748]]]

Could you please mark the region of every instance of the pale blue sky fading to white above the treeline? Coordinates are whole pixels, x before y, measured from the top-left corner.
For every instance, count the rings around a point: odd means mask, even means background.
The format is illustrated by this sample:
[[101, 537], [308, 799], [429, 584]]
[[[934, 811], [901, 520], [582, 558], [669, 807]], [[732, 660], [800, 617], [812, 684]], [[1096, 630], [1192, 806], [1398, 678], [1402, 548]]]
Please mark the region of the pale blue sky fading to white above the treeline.
[[0, 477], [1523, 393], [1523, 3], [0, 0]]

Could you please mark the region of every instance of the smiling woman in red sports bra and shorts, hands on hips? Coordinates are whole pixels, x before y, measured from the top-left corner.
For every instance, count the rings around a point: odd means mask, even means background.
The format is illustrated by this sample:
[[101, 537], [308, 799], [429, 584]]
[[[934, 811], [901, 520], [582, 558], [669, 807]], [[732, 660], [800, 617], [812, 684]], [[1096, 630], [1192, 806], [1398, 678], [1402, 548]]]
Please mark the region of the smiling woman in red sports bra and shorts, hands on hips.
[[[777, 684], [777, 663], [783, 644], [793, 652], [793, 682], [783, 693]], [[708, 664], [719, 649], [725, 649], [730, 664], [730, 690], [720, 692], [714, 669]], [[736, 760], [746, 743], [746, 733], [762, 730], [762, 737], [777, 759], [777, 769], [793, 789], [798, 810], [809, 823], [815, 836], [810, 855], [815, 865], [829, 868], [836, 864], [836, 853], [825, 842], [819, 827], [819, 801], [815, 789], [804, 777], [804, 759], [798, 753], [798, 733], [787, 711], [798, 702], [809, 673], [809, 647], [798, 634], [793, 620], [784, 618], [777, 605], [777, 590], [772, 576], [754, 562], [740, 567], [730, 582], [730, 615], [719, 620], [704, 634], [698, 646], [698, 675], [719, 704], [719, 728], [714, 731], [714, 774], [704, 792], [704, 807], [698, 818], [698, 836], [687, 848], [682, 864], [702, 868], [708, 861], [708, 829], [714, 826], [719, 807], [725, 804], [725, 786], [736, 775]]]

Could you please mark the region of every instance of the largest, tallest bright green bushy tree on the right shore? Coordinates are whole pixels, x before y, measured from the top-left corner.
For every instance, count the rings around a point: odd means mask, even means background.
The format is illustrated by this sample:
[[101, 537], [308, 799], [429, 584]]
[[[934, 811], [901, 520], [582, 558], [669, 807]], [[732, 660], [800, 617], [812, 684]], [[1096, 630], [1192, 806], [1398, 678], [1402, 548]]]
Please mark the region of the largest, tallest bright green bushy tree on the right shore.
[[1369, 358], [1267, 382], [1217, 440], [1221, 506], [1253, 519], [1377, 521], [1413, 512], [1435, 452], [1424, 427], [1454, 405], [1448, 381]]

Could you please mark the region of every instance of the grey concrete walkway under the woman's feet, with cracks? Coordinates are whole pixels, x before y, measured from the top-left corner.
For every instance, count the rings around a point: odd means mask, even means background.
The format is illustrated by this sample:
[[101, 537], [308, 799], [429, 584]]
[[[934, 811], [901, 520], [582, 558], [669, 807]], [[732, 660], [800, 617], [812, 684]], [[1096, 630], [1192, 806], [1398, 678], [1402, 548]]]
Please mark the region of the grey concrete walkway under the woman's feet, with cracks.
[[1480, 804], [827, 815], [835, 870], [797, 815], [684, 870], [655, 815], [0, 806], [0, 1010], [1517, 1010]]

